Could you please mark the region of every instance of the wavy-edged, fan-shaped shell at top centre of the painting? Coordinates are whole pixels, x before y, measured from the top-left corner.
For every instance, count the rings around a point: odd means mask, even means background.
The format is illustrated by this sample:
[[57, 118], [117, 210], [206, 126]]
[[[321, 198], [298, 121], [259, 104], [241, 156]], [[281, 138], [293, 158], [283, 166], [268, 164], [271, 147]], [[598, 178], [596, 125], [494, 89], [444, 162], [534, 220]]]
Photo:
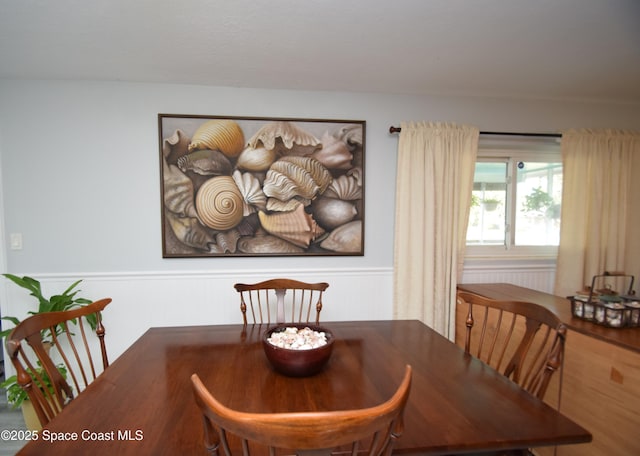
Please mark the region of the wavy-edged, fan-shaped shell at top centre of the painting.
[[281, 155], [308, 155], [322, 144], [295, 123], [278, 121], [260, 128], [249, 140], [249, 146], [254, 149], [263, 146]]

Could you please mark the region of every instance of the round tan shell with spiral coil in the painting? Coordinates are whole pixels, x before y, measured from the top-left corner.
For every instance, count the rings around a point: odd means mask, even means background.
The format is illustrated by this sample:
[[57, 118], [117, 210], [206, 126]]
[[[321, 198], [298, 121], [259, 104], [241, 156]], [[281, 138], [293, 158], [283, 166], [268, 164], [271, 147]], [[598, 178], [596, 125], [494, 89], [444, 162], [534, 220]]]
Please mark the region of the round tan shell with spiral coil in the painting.
[[196, 195], [200, 221], [214, 230], [229, 230], [242, 221], [243, 198], [231, 176], [213, 177]]

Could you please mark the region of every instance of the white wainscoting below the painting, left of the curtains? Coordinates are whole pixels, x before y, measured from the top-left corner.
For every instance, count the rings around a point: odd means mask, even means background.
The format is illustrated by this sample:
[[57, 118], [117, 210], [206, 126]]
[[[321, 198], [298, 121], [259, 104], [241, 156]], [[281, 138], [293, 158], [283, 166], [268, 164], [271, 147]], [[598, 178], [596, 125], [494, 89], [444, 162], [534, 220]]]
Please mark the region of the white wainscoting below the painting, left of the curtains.
[[[63, 292], [71, 283], [82, 279], [78, 296], [113, 299], [103, 313], [111, 360], [154, 326], [242, 323], [238, 293], [233, 288], [236, 282], [252, 283], [275, 277], [328, 282], [321, 315], [325, 322], [390, 319], [393, 311], [391, 268], [34, 274], [33, 277], [40, 280], [47, 297]], [[6, 282], [7, 299], [2, 313], [24, 318], [37, 303], [26, 290]], [[8, 364], [11, 375], [13, 366]]]

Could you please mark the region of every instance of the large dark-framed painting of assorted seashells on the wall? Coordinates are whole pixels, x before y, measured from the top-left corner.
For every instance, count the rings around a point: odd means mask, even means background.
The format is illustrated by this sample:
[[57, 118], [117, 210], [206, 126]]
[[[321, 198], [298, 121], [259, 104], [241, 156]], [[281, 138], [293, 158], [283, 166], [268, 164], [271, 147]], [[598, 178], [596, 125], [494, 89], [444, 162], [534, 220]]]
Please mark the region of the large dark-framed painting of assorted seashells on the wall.
[[163, 258], [364, 255], [365, 126], [158, 114]]

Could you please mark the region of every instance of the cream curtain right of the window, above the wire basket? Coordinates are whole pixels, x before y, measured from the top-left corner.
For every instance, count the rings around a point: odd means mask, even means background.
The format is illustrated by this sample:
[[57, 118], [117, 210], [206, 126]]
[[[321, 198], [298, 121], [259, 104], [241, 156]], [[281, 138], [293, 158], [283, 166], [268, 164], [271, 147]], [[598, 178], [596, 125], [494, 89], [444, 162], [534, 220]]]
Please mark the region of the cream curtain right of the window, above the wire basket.
[[640, 133], [570, 130], [562, 135], [561, 152], [562, 215], [554, 293], [573, 295], [604, 271], [624, 271], [637, 278]]

